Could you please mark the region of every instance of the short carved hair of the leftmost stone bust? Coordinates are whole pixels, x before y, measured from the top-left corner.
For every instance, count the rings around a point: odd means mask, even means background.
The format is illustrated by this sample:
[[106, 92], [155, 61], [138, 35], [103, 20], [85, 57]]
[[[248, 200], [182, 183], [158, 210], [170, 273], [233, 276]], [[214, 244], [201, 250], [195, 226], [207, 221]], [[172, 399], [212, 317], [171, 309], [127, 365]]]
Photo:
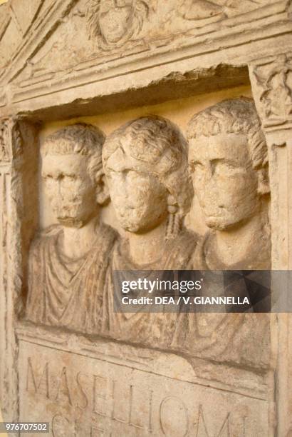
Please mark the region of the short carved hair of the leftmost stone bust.
[[102, 149], [105, 135], [85, 123], [71, 124], [49, 135], [41, 146], [41, 155], [80, 154], [88, 156], [88, 174], [94, 184], [104, 175]]

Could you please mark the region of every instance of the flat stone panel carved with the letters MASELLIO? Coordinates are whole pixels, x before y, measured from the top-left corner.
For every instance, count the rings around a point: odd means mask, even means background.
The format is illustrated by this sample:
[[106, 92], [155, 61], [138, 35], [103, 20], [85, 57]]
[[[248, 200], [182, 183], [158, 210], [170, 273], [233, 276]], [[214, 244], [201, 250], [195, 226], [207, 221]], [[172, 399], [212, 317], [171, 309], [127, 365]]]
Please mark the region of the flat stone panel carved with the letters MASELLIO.
[[[26, 357], [24, 402], [28, 398], [39, 411], [33, 419], [47, 414], [54, 437], [247, 437], [249, 421], [254, 426], [251, 414], [261, 401], [108, 362], [99, 372], [93, 366], [77, 369], [69, 363], [73, 354], [65, 355], [63, 362]], [[264, 426], [259, 423], [254, 436], [265, 436]]]

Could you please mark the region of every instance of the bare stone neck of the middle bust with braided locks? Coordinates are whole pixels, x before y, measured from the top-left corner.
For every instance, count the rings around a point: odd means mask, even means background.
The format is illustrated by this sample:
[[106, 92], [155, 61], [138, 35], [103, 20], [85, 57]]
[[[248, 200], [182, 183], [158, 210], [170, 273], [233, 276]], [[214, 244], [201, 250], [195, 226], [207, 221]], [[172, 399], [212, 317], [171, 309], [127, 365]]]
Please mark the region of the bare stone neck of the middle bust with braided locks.
[[161, 258], [165, 248], [167, 220], [147, 233], [127, 232], [130, 258], [135, 264], [143, 266]]

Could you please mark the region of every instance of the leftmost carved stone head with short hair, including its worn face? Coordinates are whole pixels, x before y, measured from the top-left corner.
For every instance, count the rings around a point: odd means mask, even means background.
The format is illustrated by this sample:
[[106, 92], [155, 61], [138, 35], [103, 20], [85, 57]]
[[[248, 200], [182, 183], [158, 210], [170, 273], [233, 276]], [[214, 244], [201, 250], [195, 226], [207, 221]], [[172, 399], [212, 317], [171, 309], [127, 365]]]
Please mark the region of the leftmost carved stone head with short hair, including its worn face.
[[64, 226], [81, 227], [108, 200], [103, 183], [103, 132], [73, 124], [48, 136], [41, 146], [41, 174], [53, 214]]

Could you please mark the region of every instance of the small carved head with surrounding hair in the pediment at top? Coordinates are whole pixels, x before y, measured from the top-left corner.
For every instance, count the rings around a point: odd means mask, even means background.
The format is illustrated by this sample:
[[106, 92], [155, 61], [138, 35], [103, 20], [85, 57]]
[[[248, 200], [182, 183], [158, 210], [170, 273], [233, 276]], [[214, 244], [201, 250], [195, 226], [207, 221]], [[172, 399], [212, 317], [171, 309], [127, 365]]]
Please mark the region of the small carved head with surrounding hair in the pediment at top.
[[90, 39], [97, 38], [104, 50], [120, 47], [139, 34], [148, 10], [143, 0], [90, 0], [87, 10]]

